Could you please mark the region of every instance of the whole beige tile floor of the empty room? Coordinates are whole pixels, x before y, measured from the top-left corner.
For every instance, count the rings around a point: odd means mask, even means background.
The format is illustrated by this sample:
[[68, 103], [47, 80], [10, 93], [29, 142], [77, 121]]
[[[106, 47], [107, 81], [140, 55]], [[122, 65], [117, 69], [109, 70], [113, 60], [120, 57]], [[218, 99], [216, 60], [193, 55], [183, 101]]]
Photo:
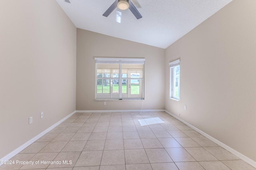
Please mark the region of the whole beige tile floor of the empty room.
[[0, 170], [256, 170], [165, 112], [75, 113], [11, 160]]

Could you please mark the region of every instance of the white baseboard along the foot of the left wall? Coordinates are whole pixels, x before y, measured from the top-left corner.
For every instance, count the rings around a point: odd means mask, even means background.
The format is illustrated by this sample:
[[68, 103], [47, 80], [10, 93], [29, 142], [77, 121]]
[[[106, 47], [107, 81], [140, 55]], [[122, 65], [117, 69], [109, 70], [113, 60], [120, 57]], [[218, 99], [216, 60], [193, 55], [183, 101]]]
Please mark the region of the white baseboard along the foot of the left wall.
[[[65, 121], [66, 119], [68, 119], [70, 116], [74, 115], [74, 113], [76, 113], [76, 111], [70, 113], [68, 116], [64, 117], [63, 119], [61, 119], [60, 121], [58, 121], [57, 123], [55, 123], [54, 125], [52, 125], [51, 127], [47, 128], [46, 130], [44, 130], [43, 132], [41, 132], [40, 134], [36, 135], [34, 138], [28, 140], [28, 142], [22, 144], [20, 147], [16, 148], [14, 151], [10, 152], [8, 155], [4, 156], [3, 158], [0, 159], [0, 162], [2, 162], [2, 160], [9, 160], [11, 159], [13, 156], [15, 156], [16, 154], [18, 154], [20, 151], [22, 151], [23, 149], [25, 149], [26, 147], [28, 147], [30, 144], [32, 144], [33, 142], [35, 142], [36, 140], [38, 140], [40, 137], [44, 136], [44, 134], [48, 133], [50, 130], [52, 130], [53, 128], [55, 128], [56, 126], [60, 125], [60, 123], [62, 123], [63, 121]], [[0, 166], [2, 164], [0, 163]]]

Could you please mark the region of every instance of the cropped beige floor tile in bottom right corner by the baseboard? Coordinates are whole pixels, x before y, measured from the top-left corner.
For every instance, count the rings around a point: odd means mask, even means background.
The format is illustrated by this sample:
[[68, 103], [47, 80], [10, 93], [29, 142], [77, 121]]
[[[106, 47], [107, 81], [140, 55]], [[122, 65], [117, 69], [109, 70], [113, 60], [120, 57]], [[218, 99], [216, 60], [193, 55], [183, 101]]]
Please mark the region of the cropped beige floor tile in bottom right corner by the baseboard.
[[256, 168], [250, 166], [243, 160], [224, 160], [221, 162], [232, 170], [256, 170]]

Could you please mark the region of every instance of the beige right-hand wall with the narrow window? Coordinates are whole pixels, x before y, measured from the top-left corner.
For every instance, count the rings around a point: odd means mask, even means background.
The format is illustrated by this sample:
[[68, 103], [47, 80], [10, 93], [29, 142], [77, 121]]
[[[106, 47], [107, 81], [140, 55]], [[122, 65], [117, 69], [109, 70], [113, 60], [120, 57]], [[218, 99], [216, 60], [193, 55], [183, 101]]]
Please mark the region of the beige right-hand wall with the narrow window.
[[[166, 49], [180, 58], [180, 101], [165, 108], [256, 161], [256, 1], [234, 0]], [[187, 105], [187, 110], [184, 110]]]

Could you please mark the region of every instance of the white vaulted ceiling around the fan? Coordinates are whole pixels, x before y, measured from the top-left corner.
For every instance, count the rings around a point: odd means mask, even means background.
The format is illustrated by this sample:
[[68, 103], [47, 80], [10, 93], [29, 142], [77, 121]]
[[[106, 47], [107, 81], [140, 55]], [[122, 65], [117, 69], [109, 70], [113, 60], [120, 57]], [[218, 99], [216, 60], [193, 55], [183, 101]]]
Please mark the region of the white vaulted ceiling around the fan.
[[139, 20], [118, 8], [102, 16], [115, 0], [56, 1], [77, 28], [165, 49], [232, 0], [132, 0]]

